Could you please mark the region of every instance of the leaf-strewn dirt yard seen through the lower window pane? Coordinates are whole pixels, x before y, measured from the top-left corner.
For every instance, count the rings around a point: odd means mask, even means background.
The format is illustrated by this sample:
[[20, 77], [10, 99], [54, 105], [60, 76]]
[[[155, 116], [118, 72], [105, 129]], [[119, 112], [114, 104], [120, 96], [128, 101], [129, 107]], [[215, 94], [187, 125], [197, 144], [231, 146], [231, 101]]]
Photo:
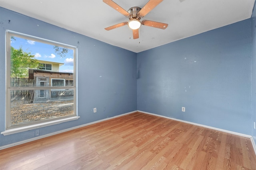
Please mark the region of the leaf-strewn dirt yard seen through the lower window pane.
[[74, 113], [73, 100], [38, 104], [28, 103], [29, 100], [13, 100], [11, 102], [11, 125], [62, 117]]

